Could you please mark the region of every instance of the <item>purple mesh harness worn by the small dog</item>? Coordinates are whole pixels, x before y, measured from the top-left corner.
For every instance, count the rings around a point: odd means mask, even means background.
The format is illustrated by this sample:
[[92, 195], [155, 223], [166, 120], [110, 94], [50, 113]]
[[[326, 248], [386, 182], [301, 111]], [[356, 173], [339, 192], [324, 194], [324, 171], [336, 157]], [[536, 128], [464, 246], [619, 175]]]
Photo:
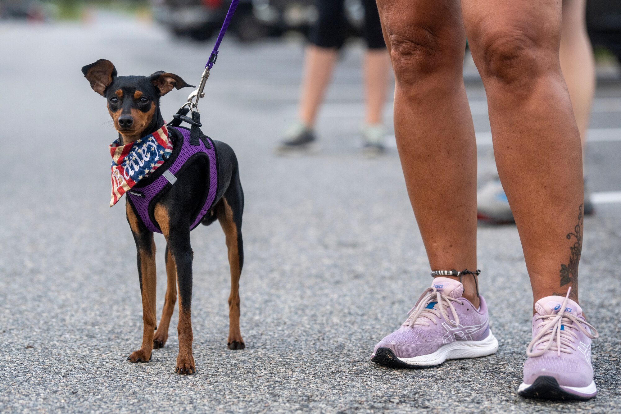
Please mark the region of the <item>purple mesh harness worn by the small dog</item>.
[[[198, 140], [198, 145], [192, 145], [188, 129], [170, 126], [169, 131], [171, 129], [178, 131], [179, 136], [181, 136], [181, 139], [175, 142], [175, 148], [171, 157], [160, 168], [155, 170], [152, 177], [148, 177], [143, 185], [138, 182], [131, 190], [127, 191], [130, 204], [138, 216], [140, 216], [140, 219], [142, 219], [142, 223], [145, 224], [149, 231], [158, 233], [161, 233], [161, 230], [155, 222], [153, 214], [155, 204], [160, 196], [164, 195], [166, 191], [170, 190], [171, 186], [175, 185], [177, 181], [176, 175], [189, 159], [202, 156], [207, 157], [207, 162], [209, 163], [209, 188], [204, 191], [205, 201], [201, 211], [194, 218], [190, 230], [201, 223], [201, 219], [212, 208], [218, 190], [217, 154], [215, 153], [215, 145], [211, 138], [202, 136]], [[169, 134], [174, 133], [175, 131], [169, 132]]]

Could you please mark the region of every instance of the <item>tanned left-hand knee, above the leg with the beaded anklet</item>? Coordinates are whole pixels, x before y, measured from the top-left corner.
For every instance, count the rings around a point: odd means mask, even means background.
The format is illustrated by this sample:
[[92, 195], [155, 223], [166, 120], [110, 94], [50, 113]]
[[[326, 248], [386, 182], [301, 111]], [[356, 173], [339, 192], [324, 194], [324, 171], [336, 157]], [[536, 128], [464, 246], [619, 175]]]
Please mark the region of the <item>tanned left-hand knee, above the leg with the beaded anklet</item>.
[[464, 40], [442, 39], [425, 27], [390, 30], [388, 40], [397, 82], [412, 85], [434, 73], [461, 70]]

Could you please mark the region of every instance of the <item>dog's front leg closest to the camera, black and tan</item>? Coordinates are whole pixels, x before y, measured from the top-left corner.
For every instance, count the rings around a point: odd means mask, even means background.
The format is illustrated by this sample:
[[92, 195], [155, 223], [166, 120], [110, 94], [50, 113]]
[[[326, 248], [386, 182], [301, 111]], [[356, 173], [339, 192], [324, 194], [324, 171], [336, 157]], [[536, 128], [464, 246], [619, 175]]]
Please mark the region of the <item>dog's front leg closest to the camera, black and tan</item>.
[[194, 252], [190, 246], [189, 223], [183, 219], [171, 220], [166, 208], [155, 206], [155, 219], [166, 237], [171, 259], [175, 264], [179, 288], [179, 354], [177, 356], [177, 374], [194, 374], [194, 357], [192, 356], [192, 260]]

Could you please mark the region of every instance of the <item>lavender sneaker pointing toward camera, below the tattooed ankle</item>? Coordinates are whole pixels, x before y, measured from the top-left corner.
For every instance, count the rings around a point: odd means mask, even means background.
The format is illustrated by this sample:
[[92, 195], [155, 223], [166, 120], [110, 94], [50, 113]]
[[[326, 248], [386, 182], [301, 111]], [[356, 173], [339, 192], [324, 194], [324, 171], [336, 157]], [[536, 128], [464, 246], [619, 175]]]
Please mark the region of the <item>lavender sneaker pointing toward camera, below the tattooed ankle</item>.
[[597, 388], [591, 367], [591, 339], [597, 330], [582, 316], [578, 303], [548, 296], [535, 303], [533, 340], [526, 349], [524, 397], [588, 400]]

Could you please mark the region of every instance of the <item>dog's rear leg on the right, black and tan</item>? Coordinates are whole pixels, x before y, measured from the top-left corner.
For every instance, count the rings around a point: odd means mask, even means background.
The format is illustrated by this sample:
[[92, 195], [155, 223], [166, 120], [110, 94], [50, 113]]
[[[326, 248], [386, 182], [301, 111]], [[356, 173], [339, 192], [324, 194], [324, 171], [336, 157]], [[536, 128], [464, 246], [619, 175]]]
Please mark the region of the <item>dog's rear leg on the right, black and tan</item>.
[[[241, 187], [240, 187], [241, 189]], [[227, 195], [230, 199], [227, 199]], [[243, 196], [242, 196], [243, 197]], [[230, 201], [230, 203], [229, 203]], [[233, 211], [232, 206], [235, 211]], [[243, 242], [242, 242], [242, 211], [243, 198], [237, 195], [227, 194], [220, 201], [217, 208], [217, 217], [226, 235], [227, 248], [229, 249], [229, 266], [231, 271], [231, 293], [229, 296], [229, 349], [244, 349], [242, 333], [239, 329], [239, 278], [243, 267]]]

